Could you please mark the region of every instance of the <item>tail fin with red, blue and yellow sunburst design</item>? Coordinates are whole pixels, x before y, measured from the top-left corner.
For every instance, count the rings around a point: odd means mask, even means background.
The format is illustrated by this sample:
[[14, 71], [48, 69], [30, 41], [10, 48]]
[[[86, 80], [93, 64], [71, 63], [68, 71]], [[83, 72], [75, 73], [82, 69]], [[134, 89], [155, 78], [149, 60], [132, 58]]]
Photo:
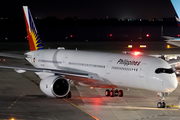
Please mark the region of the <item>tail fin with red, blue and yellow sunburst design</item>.
[[42, 40], [39, 37], [28, 6], [23, 6], [23, 10], [30, 51], [43, 49]]

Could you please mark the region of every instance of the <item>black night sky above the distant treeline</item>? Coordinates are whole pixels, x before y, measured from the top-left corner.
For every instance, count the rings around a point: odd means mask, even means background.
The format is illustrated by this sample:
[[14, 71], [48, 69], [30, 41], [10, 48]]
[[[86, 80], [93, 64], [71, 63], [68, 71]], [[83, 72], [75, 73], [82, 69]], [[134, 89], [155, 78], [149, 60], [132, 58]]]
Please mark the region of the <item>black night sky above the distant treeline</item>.
[[170, 0], [1, 0], [0, 17], [23, 18], [22, 5], [29, 6], [33, 17], [38, 18], [161, 19], [176, 14]]

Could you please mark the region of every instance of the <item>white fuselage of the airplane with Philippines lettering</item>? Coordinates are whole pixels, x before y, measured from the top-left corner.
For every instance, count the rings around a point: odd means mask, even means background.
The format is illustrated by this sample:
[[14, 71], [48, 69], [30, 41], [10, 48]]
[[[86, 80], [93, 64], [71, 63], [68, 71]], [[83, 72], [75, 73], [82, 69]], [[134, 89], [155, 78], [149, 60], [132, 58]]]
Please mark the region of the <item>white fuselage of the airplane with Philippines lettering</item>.
[[177, 87], [175, 73], [155, 73], [158, 68], [170, 69], [162, 59], [116, 53], [75, 50], [37, 50], [26, 53], [37, 68], [67, 67], [98, 74], [107, 85], [172, 92]]

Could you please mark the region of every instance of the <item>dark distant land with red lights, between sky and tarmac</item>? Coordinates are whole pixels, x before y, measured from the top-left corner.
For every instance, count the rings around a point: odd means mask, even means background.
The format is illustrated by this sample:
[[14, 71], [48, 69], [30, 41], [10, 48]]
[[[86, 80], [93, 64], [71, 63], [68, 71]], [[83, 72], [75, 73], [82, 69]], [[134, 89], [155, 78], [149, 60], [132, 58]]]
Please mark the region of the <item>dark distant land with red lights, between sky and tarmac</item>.
[[[35, 19], [45, 42], [122, 42], [163, 41], [162, 36], [178, 37], [180, 28], [174, 18], [163, 21], [128, 21], [119, 19]], [[149, 34], [149, 37], [146, 35]], [[1, 19], [0, 42], [27, 42], [24, 19]]]

